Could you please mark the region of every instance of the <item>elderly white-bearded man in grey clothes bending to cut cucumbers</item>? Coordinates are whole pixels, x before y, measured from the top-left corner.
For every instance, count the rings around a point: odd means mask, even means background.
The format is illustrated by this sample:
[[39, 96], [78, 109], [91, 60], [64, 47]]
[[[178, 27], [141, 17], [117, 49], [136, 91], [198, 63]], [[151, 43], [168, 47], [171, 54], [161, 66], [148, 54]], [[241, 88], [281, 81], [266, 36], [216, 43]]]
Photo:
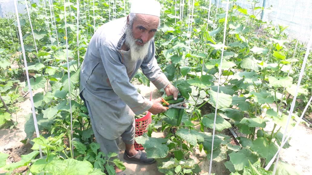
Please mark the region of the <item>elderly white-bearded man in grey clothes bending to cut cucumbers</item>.
[[[134, 149], [134, 114], [166, 111], [161, 99], [149, 101], [130, 83], [139, 68], [158, 88], [177, 98], [155, 59], [154, 35], [160, 22], [160, 4], [135, 0], [130, 14], [102, 25], [90, 40], [80, 72], [80, 96], [88, 108], [92, 128], [105, 154], [119, 153], [119, 137], [125, 143], [124, 159], [153, 163]], [[115, 166], [116, 173], [124, 174]]]

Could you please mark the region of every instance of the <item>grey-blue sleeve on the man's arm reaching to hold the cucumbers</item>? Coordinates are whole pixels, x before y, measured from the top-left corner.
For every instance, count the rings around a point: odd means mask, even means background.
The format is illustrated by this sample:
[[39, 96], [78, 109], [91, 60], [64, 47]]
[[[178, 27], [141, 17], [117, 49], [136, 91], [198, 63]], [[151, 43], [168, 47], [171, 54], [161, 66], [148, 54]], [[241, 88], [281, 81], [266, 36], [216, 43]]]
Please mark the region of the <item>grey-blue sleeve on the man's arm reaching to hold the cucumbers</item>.
[[144, 75], [156, 86], [157, 89], [165, 88], [170, 82], [166, 75], [162, 72], [158, 66], [155, 58], [155, 45], [154, 41], [151, 44], [151, 49], [147, 58], [144, 59], [141, 65]]

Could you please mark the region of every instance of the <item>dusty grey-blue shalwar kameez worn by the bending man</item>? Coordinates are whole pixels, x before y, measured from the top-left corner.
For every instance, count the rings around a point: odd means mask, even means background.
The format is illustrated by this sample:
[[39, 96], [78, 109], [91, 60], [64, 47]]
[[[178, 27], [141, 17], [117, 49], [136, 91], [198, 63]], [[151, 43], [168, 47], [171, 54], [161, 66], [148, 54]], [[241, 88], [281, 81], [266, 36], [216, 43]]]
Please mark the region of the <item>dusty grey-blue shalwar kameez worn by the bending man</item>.
[[[154, 40], [148, 55], [134, 61], [129, 51], [121, 50], [127, 18], [102, 25], [90, 40], [80, 71], [80, 95], [89, 110], [95, 138], [104, 153], [117, 152], [116, 141], [134, 143], [134, 114], [147, 111], [152, 102], [130, 83], [141, 67], [158, 88], [169, 84], [155, 59]], [[112, 143], [109, 143], [112, 142]]]

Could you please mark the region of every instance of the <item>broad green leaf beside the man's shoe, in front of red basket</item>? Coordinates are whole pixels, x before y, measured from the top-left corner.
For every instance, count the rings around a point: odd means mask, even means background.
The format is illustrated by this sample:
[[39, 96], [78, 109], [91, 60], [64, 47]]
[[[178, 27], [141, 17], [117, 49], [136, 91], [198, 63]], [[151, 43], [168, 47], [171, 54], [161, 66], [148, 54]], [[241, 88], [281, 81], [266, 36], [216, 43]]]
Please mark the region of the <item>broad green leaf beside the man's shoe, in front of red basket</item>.
[[153, 138], [143, 134], [143, 136], [135, 137], [135, 141], [142, 144], [149, 158], [164, 158], [168, 154], [168, 146], [163, 144], [168, 141], [164, 138]]

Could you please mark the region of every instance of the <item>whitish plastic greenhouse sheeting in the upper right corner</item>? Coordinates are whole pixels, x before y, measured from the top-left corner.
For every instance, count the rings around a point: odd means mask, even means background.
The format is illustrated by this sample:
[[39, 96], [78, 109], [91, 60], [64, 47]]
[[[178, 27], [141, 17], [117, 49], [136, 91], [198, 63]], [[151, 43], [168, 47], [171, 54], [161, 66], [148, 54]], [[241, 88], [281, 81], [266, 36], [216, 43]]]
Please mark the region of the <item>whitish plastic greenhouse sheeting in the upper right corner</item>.
[[[216, 4], [217, 0], [214, 3]], [[264, 0], [258, 0], [256, 7], [262, 7]], [[219, 0], [221, 5], [221, 0]], [[237, 0], [236, 4], [248, 10], [251, 13], [251, 3], [247, 0]], [[225, 3], [221, 5], [224, 7]], [[272, 6], [272, 7], [271, 7]], [[271, 10], [264, 13], [264, 21], [272, 21], [274, 25], [288, 26], [285, 30], [290, 38], [298, 38], [301, 42], [308, 42], [312, 28], [312, 2], [311, 0], [266, 0], [265, 8], [271, 7]], [[258, 17], [261, 17], [261, 12]], [[300, 31], [301, 30], [301, 31]], [[299, 36], [301, 32], [301, 35]]]

